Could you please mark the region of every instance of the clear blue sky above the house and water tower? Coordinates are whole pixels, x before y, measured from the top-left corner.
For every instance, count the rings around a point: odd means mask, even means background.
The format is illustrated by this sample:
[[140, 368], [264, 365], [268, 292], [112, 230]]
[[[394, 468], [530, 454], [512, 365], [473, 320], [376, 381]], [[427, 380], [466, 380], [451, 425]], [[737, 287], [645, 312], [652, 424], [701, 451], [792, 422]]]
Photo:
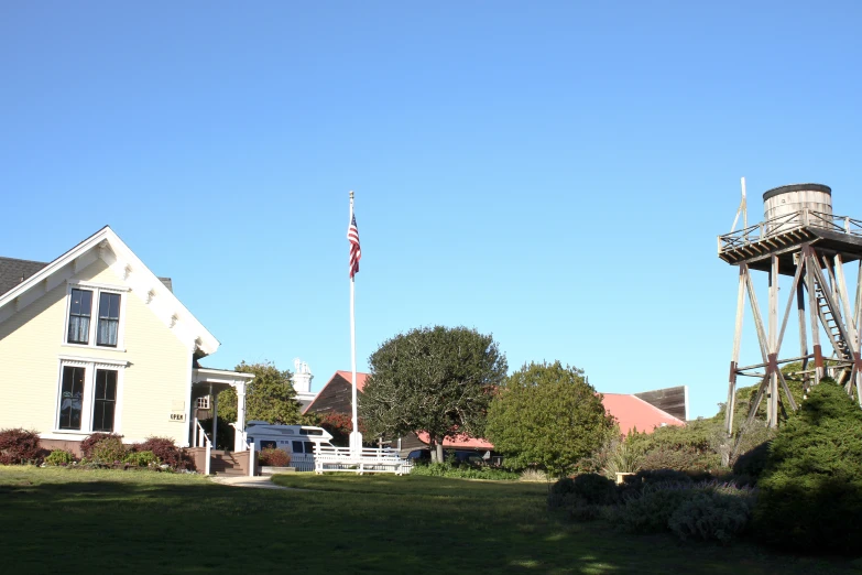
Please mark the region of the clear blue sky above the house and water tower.
[[[647, 6], [648, 4], [648, 6]], [[423, 325], [727, 397], [745, 176], [862, 218], [855, 2], [7, 2], [0, 254], [110, 225], [222, 343], [359, 368]], [[854, 276], [854, 275], [853, 275]], [[761, 279], [765, 282], [765, 278]], [[759, 362], [750, 318], [743, 362]], [[792, 345], [788, 343], [787, 345]]]

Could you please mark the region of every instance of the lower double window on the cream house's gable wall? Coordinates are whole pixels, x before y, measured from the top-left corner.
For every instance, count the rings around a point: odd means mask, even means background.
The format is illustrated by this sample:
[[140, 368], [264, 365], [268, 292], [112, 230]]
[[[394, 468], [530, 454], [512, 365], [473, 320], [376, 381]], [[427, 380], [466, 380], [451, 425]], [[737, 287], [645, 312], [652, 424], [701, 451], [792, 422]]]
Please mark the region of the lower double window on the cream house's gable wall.
[[121, 364], [64, 360], [61, 364], [57, 430], [107, 432], [118, 430]]

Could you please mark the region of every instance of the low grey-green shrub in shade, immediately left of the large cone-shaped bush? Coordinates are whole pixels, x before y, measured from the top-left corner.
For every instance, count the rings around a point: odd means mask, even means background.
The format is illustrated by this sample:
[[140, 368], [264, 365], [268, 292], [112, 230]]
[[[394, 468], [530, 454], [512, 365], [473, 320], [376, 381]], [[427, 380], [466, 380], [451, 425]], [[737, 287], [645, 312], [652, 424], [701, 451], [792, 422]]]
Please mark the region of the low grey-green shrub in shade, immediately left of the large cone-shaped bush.
[[727, 544], [748, 527], [751, 509], [751, 491], [700, 490], [679, 503], [667, 527], [683, 541], [718, 540]]

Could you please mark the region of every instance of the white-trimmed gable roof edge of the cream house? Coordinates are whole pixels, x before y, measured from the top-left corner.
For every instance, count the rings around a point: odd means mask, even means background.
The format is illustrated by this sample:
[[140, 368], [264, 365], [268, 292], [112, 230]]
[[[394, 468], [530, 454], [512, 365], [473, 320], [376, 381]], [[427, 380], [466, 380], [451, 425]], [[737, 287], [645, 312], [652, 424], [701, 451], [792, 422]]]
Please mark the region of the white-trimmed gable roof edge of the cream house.
[[[218, 339], [192, 315], [176, 299], [170, 286], [153, 274], [109, 226], [105, 226], [57, 259], [41, 264], [39, 269], [36, 265], [41, 262], [31, 261], [29, 265], [25, 264], [33, 273], [29, 276], [24, 274], [23, 281], [19, 276], [18, 282], [11, 288], [0, 291], [0, 323], [64, 281], [74, 278], [98, 259], [105, 261], [118, 276], [122, 278], [131, 292], [144, 301], [183, 343], [189, 347], [194, 346], [204, 355], [212, 354], [218, 349]], [[9, 262], [11, 270], [3, 272], [3, 278], [14, 278], [10, 274], [18, 273], [17, 270], [22, 269], [19, 262], [26, 261], [10, 258], [3, 260]]]

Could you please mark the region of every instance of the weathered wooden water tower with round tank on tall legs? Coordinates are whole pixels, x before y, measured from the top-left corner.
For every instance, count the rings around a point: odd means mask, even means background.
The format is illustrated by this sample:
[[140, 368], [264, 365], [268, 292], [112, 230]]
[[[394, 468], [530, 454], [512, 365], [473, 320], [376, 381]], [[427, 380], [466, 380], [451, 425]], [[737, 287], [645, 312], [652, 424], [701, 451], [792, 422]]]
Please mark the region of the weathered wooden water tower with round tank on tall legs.
[[[761, 380], [749, 422], [754, 419], [764, 398], [767, 423], [772, 427], [778, 423], [779, 401], [793, 410], [797, 409], [787, 380], [803, 381], [807, 390], [819, 383], [823, 376], [831, 376], [862, 405], [862, 220], [833, 215], [832, 191], [820, 184], [776, 187], [763, 194], [763, 202], [762, 223], [718, 238], [719, 258], [740, 270], [736, 327], [724, 417], [728, 434], [733, 432], [736, 378], [740, 376]], [[744, 204], [743, 180], [741, 209], [745, 207]], [[860, 264], [855, 273], [854, 297], [851, 300], [845, 264], [853, 261]], [[754, 274], [753, 271], [766, 273]], [[768, 279], [765, 323], [757, 305], [755, 275]], [[781, 275], [793, 276], [793, 284], [779, 324]], [[763, 361], [740, 367], [746, 294]], [[782, 341], [792, 315], [796, 315], [794, 323], [799, 327], [799, 352], [782, 354]], [[822, 335], [829, 344], [826, 350], [821, 346]], [[801, 369], [782, 373], [781, 367], [790, 362], [801, 362]]]

